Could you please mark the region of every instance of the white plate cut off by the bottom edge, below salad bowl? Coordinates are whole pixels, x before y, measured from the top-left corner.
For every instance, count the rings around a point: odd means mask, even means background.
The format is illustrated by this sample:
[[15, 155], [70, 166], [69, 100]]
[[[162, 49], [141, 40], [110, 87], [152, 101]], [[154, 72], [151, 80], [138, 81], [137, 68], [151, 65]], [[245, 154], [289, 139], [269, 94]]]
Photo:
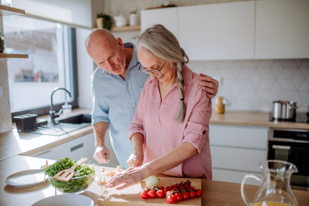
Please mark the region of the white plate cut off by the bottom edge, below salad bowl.
[[85, 195], [56, 195], [45, 198], [32, 206], [93, 206], [94, 202]]

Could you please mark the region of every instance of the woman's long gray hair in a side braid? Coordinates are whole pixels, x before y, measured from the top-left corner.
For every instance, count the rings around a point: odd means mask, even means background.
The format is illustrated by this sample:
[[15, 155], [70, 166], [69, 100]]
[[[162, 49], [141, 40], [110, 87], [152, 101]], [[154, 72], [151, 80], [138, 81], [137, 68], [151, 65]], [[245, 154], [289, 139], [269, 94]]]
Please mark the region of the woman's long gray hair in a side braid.
[[[153, 58], [163, 59], [169, 62], [177, 71], [176, 83], [179, 87], [180, 99], [184, 99], [184, 64], [189, 62], [184, 49], [180, 47], [177, 38], [163, 25], [155, 24], [145, 31], [138, 38], [136, 52], [148, 52]], [[180, 101], [175, 122], [183, 122], [186, 116], [186, 105]]]

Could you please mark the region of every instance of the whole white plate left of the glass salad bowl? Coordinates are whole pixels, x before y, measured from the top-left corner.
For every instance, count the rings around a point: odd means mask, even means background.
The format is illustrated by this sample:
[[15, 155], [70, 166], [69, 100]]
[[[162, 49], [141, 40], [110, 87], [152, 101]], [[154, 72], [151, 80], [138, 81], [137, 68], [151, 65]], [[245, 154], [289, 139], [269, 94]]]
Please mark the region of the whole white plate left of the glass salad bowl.
[[33, 185], [38, 182], [44, 181], [45, 174], [43, 170], [25, 170], [11, 174], [5, 178], [5, 182], [8, 185], [13, 186], [27, 186]]

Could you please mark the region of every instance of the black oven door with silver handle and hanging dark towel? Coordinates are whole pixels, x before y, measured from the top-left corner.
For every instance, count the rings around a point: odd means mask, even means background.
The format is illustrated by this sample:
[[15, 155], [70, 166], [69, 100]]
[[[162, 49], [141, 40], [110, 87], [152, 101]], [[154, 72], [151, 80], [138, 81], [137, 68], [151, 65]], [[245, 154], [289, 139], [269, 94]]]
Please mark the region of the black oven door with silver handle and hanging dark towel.
[[[273, 138], [275, 139], [275, 138]], [[309, 148], [308, 143], [296, 143], [296, 142], [286, 142], [286, 141], [270, 141], [268, 145], [268, 159], [269, 160], [283, 160], [288, 161], [291, 147], [295, 148]], [[294, 163], [294, 162], [292, 162]], [[295, 164], [295, 163], [294, 163]], [[303, 162], [298, 162], [298, 164], [309, 164], [309, 160], [304, 158]], [[297, 167], [297, 164], [295, 164]], [[293, 187], [294, 186], [294, 187]], [[301, 186], [301, 187], [299, 187]], [[302, 188], [304, 187], [304, 188]], [[307, 187], [307, 188], [306, 188]], [[291, 188], [297, 190], [309, 191], [309, 171], [307, 174], [302, 175], [296, 173], [291, 177]]]

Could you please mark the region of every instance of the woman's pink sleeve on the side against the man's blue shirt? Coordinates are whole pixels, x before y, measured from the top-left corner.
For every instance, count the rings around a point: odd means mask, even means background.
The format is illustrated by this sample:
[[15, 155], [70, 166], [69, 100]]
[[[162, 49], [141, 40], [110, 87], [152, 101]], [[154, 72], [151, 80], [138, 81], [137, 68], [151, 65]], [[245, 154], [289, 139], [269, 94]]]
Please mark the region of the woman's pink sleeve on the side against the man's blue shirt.
[[129, 138], [135, 133], [141, 133], [144, 135], [144, 94], [145, 94], [145, 87], [142, 89], [141, 95], [139, 96], [138, 104], [135, 110], [134, 119], [131, 122], [131, 126], [129, 129]]

